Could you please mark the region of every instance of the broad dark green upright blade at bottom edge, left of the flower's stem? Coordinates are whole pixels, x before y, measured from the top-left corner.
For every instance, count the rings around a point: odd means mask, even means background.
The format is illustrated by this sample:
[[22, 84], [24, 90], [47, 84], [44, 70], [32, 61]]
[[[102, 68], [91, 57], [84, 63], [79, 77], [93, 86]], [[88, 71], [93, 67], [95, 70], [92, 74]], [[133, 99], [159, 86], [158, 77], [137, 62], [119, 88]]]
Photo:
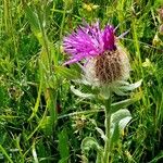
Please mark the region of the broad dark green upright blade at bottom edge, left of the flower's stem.
[[61, 160], [59, 162], [61, 163], [67, 163], [67, 159], [70, 156], [70, 147], [68, 147], [68, 137], [66, 129], [63, 129], [59, 134], [59, 152]]

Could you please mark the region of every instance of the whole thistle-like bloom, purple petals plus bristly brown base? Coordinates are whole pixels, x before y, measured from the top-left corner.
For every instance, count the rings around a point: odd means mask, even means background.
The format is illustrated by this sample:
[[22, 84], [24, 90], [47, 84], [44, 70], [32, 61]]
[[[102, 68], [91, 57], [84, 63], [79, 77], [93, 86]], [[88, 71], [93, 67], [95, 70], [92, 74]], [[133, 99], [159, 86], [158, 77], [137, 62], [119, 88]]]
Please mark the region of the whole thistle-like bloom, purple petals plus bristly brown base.
[[99, 22], [79, 26], [63, 40], [64, 51], [71, 54], [65, 64], [84, 61], [84, 77], [92, 86], [111, 86], [129, 77], [126, 51], [118, 45], [114, 28], [100, 28]]

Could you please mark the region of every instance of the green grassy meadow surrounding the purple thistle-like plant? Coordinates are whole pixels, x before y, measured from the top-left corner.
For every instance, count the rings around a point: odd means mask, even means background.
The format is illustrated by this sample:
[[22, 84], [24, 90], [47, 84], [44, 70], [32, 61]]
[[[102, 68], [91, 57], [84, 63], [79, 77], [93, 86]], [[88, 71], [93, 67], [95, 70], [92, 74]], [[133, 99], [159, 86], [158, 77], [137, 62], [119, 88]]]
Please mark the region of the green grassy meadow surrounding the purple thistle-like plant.
[[[83, 21], [117, 27], [129, 53], [127, 97], [131, 121], [112, 152], [113, 163], [163, 162], [163, 2], [162, 0], [1, 0], [0, 1], [0, 163], [86, 163], [82, 141], [101, 145], [104, 113], [98, 99], [78, 97], [80, 76], [62, 42]], [[115, 103], [116, 104], [116, 103]], [[88, 153], [96, 162], [96, 150]]]

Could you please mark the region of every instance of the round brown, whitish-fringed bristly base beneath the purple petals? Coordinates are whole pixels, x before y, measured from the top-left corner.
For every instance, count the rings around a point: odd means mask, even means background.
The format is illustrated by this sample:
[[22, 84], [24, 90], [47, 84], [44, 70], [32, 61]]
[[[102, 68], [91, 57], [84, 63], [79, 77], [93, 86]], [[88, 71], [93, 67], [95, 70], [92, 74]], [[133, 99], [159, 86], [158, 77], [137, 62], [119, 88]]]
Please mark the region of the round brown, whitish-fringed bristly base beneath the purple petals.
[[92, 85], [102, 86], [127, 79], [129, 71], [127, 54], [118, 47], [90, 59], [85, 66], [85, 76]]

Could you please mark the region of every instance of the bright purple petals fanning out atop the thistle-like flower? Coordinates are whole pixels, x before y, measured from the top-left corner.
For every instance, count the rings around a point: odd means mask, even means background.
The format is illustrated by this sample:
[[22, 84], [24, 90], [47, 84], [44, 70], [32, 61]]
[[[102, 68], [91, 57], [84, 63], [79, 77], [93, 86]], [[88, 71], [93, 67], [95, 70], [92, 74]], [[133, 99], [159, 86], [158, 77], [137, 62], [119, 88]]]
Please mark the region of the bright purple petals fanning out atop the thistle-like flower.
[[64, 64], [71, 64], [83, 59], [93, 58], [104, 51], [115, 50], [114, 28], [106, 25], [100, 28], [99, 22], [79, 26], [73, 34], [63, 40], [64, 51], [71, 54], [71, 60]]

